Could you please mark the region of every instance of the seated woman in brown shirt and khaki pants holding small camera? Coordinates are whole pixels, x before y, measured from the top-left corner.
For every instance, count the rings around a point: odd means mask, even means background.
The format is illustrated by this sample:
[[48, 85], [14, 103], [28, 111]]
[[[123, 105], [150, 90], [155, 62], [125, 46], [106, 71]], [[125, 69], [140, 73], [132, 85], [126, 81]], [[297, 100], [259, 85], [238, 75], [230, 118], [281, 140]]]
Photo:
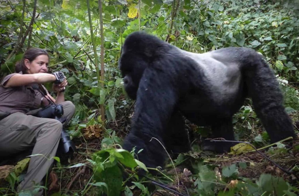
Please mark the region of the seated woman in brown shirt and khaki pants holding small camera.
[[[18, 191], [33, 190], [33, 186], [41, 185], [54, 161], [62, 131], [60, 121], [29, 114], [51, 103], [62, 104], [64, 116], [69, 121], [75, 111], [74, 105], [64, 100], [66, 79], [53, 84], [56, 99], [42, 85], [58, 79], [57, 75], [47, 73], [48, 63], [46, 50], [30, 48], [16, 64], [16, 73], [4, 77], [0, 83], [0, 156], [17, 154], [33, 146], [32, 154], [44, 155], [30, 158], [27, 174]], [[37, 195], [42, 195], [42, 191], [40, 189]]]

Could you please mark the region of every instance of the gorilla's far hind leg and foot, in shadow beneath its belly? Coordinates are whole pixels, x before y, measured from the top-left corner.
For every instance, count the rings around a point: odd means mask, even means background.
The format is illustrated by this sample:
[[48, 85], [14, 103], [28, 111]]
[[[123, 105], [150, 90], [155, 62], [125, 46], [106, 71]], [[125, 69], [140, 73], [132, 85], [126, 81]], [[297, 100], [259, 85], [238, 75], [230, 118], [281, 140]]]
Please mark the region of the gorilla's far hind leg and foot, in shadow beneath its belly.
[[[233, 132], [232, 117], [215, 119], [215, 124], [211, 126], [213, 138], [224, 138], [225, 140], [235, 140]], [[221, 140], [221, 139], [218, 139]], [[234, 143], [231, 142], [213, 142], [211, 140], [202, 141], [202, 150], [216, 151], [218, 153], [229, 152], [230, 147]]]

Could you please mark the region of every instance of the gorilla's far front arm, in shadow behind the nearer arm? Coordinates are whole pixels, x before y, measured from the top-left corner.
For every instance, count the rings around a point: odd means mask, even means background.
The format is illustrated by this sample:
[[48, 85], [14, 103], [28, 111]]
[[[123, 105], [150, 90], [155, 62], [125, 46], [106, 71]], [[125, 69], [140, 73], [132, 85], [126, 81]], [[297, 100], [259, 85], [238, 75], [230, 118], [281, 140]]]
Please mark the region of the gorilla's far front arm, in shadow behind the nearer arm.
[[164, 143], [169, 152], [179, 154], [190, 150], [185, 121], [179, 111], [174, 111], [170, 118], [164, 135]]

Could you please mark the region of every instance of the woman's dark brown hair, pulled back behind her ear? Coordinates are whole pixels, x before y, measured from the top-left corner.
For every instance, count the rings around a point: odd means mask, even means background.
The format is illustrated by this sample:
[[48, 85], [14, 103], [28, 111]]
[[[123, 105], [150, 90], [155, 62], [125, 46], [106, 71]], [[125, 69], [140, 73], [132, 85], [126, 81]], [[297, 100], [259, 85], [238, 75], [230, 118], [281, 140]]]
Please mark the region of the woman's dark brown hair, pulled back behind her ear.
[[29, 48], [22, 58], [22, 60], [18, 61], [16, 63], [16, 73], [19, 73], [20, 71], [23, 72], [23, 74], [27, 73], [27, 67], [25, 66], [25, 59], [28, 59], [30, 62], [32, 62], [37, 56], [39, 55], [47, 55], [49, 58], [49, 55], [46, 50], [41, 48]]

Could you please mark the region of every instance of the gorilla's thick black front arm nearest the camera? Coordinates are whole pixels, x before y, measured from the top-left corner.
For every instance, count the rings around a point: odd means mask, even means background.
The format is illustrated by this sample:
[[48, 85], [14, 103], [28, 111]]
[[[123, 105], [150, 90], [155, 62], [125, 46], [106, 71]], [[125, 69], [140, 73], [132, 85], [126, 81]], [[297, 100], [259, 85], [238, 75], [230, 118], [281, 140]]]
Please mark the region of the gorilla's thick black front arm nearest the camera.
[[164, 145], [165, 129], [178, 99], [175, 91], [167, 73], [151, 68], [144, 71], [137, 91], [133, 124], [123, 148], [130, 151], [136, 146], [135, 153], [143, 149], [136, 157], [147, 167], [164, 165], [166, 153], [161, 144]]

